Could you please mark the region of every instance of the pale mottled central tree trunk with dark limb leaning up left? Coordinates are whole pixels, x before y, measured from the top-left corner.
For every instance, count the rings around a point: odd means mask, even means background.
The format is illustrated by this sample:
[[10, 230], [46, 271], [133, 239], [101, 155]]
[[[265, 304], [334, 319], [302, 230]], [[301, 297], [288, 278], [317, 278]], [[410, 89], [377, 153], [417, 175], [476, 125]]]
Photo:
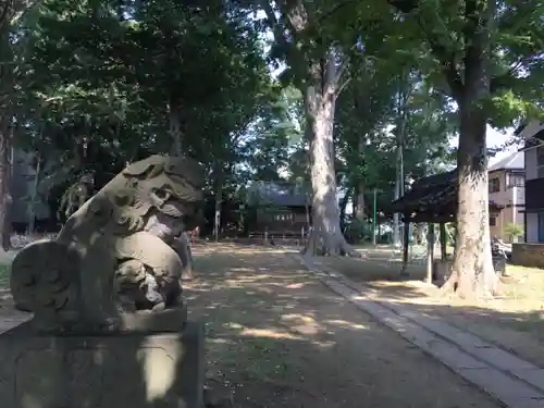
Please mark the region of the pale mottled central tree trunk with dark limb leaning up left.
[[[279, 10], [273, 9], [274, 3]], [[310, 21], [316, 14], [306, 9], [305, 2], [262, 0], [261, 5], [275, 40], [285, 50], [297, 86], [305, 94], [307, 126], [312, 134], [310, 161], [313, 225], [304, 252], [357, 256], [341, 231], [334, 170], [334, 108], [344, 85], [341, 82], [345, 79], [343, 75], [347, 61], [342, 61], [338, 66], [338, 59], [342, 60], [343, 55], [335, 52], [333, 45], [323, 49], [322, 41], [311, 46], [311, 51], [314, 52], [308, 52], [307, 46], [310, 44], [300, 41], [300, 38], [306, 38], [305, 32], [318, 26], [319, 22]], [[281, 20], [277, 18], [276, 11], [281, 12]], [[318, 52], [321, 53], [320, 58], [314, 58]]]

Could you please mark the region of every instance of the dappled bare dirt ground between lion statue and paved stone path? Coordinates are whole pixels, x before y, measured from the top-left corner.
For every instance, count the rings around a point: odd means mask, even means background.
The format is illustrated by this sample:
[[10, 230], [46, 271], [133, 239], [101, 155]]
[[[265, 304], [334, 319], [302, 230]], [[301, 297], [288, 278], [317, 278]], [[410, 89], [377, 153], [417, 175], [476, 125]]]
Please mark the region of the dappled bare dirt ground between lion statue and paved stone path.
[[234, 391], [236, 407], [498, 407], [285, 254], [195, 257], [189, 311], [208, 322], [208, 376]]

